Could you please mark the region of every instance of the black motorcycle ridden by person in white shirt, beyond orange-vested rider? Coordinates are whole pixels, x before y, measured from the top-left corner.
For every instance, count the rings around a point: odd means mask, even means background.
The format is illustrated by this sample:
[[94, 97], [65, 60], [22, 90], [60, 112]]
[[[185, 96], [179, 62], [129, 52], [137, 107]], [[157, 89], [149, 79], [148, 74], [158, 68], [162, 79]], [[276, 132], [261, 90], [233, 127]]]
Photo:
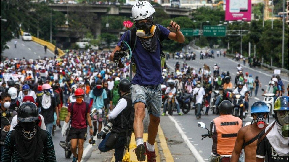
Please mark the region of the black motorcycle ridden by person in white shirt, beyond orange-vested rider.
[[244, 106], [244, 101], [243, 99], [245, 98], [244, 96], [241, 96], [241, 94], [235, 94], [233, 97], [233, 116], [239, 117], [240, 119], [243, 120], [243, 106]]

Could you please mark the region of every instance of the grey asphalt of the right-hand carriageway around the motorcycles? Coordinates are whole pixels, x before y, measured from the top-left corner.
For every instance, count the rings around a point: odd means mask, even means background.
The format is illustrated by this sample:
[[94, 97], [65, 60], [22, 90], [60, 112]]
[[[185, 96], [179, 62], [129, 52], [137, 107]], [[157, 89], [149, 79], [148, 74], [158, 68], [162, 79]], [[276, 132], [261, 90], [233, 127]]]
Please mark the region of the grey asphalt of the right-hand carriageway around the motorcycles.
[[[186, 63], [188, 63], [188, 66], [190, 67], [194, 67], [195, 69], [199, 69], [201, 67], [203, 67], [203, 64], [207, 64], [208, 66], [210, 66], [210, 69], [213, 68], [213, 65], [215, 63], [218, 64], [218, 66], [220, 67], [220, 73], [229, 71], [231, 74], [231, 78], [232, 78], [232, 83], [234, 84], [234, 80], [235, 80], [235, 76], [236, 76], [236, 72], [237, 72], [237, 64], [240, 63], [241, 66], [243, 66], [243, 61], [239, 61], [239, 62], [235, 62], [230, 58], [224, 58], [222, 57], [215, 57], [215, 59], [213, 58], [208, 58], [208, 59], [204, 59], [204, 60], [200, 60], [200, 50], [193, 50], [194, 52], [196, 52], [197, 54], [197, 58], [196, 60], [192, 61], [186, 61]], [[216, 52], [215, 52], [215, 56], [216, 56]], [[184, 60], [176, 60], [176, 59], [169, 59], [166, 60], [166, 64], [168, 65], [168, 67], [171, 69], [170, 71], [174, 71], [174, 64], [179, 61], [181, 67], [182, 67], [182, 63], [184, 63]], [[262, 87], [266, 89], [267, 85], [273, 75], [272, 71], [266, 71], [266, 69], [263, 68], [249, 68], [248, 67], [248, 63], [247, 66], [243, 66], [244, 70], [243, 72], [249, 72], [249, 74], [253, 75], [253, 78], [255, 78], [255, 76], [259, 76], [259, 80], [262, 83]], [[283, 83], [285, 85], [285, 87], [288, 85], [288, 76], [284, 76], [281, 75], [280, 76], [283, 80]], [[251, 106], [251, 104], [255, 101], [258, 100], [263, 100], [263, 96], [262, 96], [262, 91], [261, 88], [259, 87], [258, 90], [258, 94], [256, 97], [254, 97], [254, 94], [252, 95], [252, 98], [249, 99], [249, 107]], [[203, 108], [203, 110], [205, 111], [205, 108]], [[249, 108], [250, 110], [250, 108]], [[166, 116], [168, 117], [168, 116]], [[178, 123], [178, 126], [176, 126], [176, 128], [179, 127], [179, 129], [181, 129], [183, 132], [180, 132], [180, 134], [182, 136], [186, 136], [185, 140], [189, 140], [190, 144], [187, 144], [187, 146], [191, 149], [191, 145], [196, 149], [195, 152], [197, 152], [197, 154], [199, 154], [203, 160], [207, 161], [208, 157], [211, 154], [211, 146], [213, 144], [212, 139], [211, 138], [204, 138], [203, 140], [201, 135], [202, 134], [207, 134], [208, 130], [205, 130], [203, 128], [200, 128], [197, 126], [197, 123], [200, 122], [204, 122], [206, 124], [206, 127], [209, 128], [210, 127], [210, 122], [214, 119], [218, 117], [218, 115], [212, 114], [212, 111], [209, 110], [209, 115], [205, 116], [202, 115], [201, 119], [197, 120], [196, 116], [194, 114], [194, 110], [191, 110], [188, 114], [184, 114], [183, 116], [178, 116], [176, 115], [176, 112], [174, 112], [174, 115], [172, 117], [168, 117], [168, 118], [172, 118], [171, 120], [175, 120], [176, 123]], [[252, 121], [252, 117], [249, 115], [246, 117], [246, 119], [243, 120], [243, 125], [245, 125], [246, 122], [251, 122]], [[272, 122], [274, 119], [273, 117], [269, 118], [270, 122]], [[194, 152], [194, 151], [192, 151]], [[196, 154], [194, 154], [196, 155]]]

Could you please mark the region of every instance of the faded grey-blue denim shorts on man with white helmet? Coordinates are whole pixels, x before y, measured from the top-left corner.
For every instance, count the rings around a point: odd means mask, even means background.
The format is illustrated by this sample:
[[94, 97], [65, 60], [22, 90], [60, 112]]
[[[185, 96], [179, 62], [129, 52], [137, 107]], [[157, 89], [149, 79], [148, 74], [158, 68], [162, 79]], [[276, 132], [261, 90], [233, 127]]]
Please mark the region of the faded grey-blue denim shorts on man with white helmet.
[[161, 84], [155, 86], [131, 84], [130, 91], [133, 106], [137, 102], [142, 102], [149, 114], [160, 117], [160, 108], [163, 102]]

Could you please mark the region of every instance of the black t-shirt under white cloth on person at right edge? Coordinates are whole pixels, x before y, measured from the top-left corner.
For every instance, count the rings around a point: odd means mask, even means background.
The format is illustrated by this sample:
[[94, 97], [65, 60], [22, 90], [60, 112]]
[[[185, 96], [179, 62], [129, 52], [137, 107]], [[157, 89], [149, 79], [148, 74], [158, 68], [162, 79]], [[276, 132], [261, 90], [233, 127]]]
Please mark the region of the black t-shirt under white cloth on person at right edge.
[[[260, 138], [264, 135], [265, 130], [263, 130], [258, 138], [258, 141]], [[288, 149], [288, 148], [287, 148]], [[289, 156], [279, 156], [275, 152], [274, 148], [272, 148], [271, 144], [269, 143], [267, 137], [265, 137], [259, 145], [257, 145], [257, 150], [256, 150], [256, 157], [257, 158], [264, 158], [267, 154], [267, 161], [269, 162], [288, 162], [289, 161]]]

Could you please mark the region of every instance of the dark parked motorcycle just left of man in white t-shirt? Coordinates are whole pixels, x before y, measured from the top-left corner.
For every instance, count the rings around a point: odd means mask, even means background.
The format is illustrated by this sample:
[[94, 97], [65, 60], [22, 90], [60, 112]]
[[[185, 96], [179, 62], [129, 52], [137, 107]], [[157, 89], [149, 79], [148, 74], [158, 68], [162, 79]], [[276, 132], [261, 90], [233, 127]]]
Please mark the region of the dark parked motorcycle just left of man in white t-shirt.
[[182, 112], [184, 114], [187, 114], [191, 109], [191, 97], [192, 97], [192, 94], [190, 93], [178, 92], [176, 94], [176, 99], [178, 100], [180, 104], [180, 108], [182, 109]]

